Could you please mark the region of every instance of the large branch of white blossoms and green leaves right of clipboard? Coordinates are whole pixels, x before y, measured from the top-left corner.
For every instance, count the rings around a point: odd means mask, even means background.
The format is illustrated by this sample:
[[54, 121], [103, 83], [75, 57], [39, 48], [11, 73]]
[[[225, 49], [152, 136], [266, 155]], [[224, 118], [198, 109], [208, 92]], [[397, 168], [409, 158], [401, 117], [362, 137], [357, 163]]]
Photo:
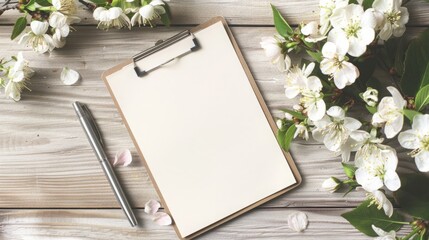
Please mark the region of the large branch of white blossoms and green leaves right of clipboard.
[[[362, 233], [429, 239], [429, 30], [409, 42], [402, 37], [409, 13], [401, 0], [321, 0], [319, 22], [295, 29], [272, 10], [278, 34], [261, 47], [284, 75], [286, 98], [299, 102], [277, 120], [279, 144], [289, 150], [293, 139], [311, 135], [341, 156], [346, 177], [322, 187], [365, 192], [342, 215]], [[292, 64], [290, 55], [303, 52], [300, 66]], [[377, 67], [388, 82], [376, 77]], [[393, 138], [410, 150], [414, 173], [397, 173], [396, 150], [385, 142]], [[397, 237], [403, 225], [411, 232]]]

